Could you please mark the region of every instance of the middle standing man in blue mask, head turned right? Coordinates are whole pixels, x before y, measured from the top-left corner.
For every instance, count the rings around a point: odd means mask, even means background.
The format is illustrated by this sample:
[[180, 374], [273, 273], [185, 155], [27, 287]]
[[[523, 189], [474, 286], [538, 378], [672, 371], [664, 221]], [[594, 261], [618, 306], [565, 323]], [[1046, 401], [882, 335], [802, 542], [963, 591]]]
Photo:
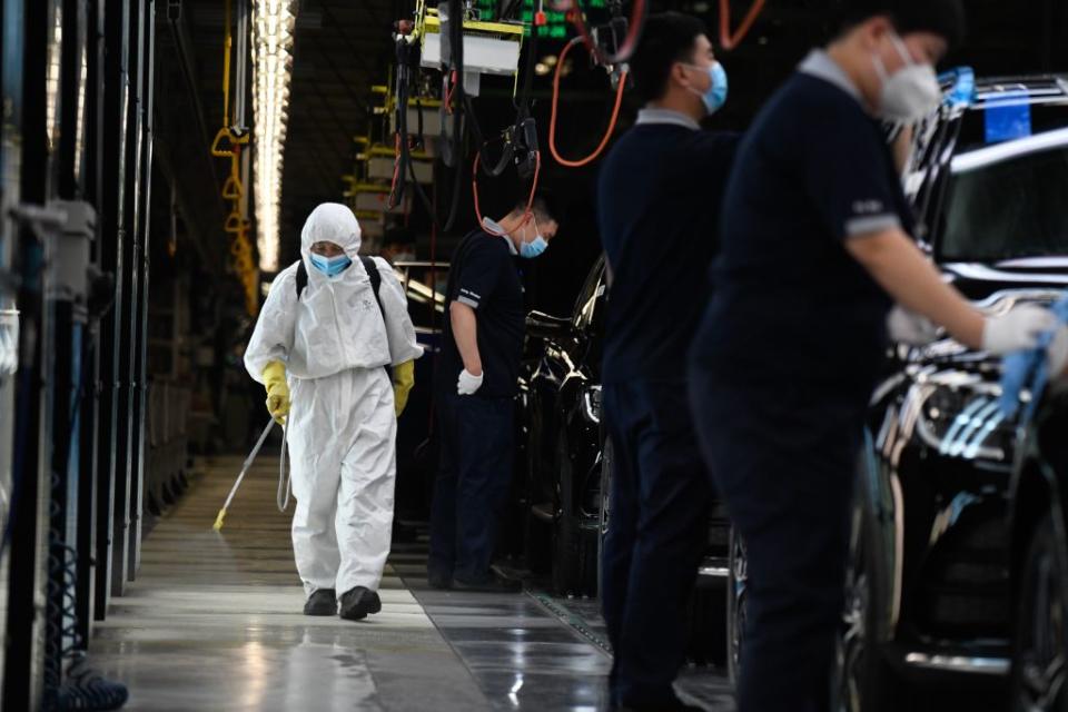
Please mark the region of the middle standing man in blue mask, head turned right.
[[605, 425], [615, 447], [602, 561], [613, 706], [682, 710], [686, 600], [709, 537], [712, 488], [686, 400], [686, 352], [708, 300], [720, 200], [738, 139], [699, 121], [726, 100], [704, 24], [652, 16], [631, 60], [645, 103], [601, 168], [612, 273]]

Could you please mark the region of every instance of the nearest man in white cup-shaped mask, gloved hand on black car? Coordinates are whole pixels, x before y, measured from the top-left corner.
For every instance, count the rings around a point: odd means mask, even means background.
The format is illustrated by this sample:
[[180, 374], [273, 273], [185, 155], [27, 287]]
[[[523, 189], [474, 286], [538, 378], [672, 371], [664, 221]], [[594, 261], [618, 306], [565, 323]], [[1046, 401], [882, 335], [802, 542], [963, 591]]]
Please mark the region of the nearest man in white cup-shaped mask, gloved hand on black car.
[[933, 67], [961, 39], [960, 0], [850, 4], [739, 149], [691, 355], [702, 451], [748, 547], [741, 712], [830, 709], [853, 478], [891, 306], [996, 355], [1056, 327], [1035, 306], [985, 317], [911, 237], [880, 120], [938, 108]]

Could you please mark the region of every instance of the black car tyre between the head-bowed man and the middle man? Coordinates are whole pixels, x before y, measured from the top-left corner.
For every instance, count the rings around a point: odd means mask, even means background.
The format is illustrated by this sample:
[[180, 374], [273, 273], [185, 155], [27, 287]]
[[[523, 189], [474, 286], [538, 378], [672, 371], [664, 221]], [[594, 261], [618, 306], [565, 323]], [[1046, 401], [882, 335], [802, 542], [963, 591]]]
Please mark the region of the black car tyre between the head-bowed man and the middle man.
[[556, 486], [560, 501], [553, 522], [553, 587], [561, 595], [593, 595], [597, 585], [596, 531], [583, 531], [574, 502], [574, 482], [567, 443], [556, 444]]

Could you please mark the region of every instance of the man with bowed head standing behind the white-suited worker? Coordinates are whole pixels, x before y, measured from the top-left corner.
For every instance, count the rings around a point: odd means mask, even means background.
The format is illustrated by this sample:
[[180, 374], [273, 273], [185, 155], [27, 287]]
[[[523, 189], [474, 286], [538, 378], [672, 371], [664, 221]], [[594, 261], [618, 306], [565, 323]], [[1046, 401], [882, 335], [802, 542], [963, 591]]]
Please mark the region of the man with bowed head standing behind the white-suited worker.
[[448, 319], [436, 374], [441, 463], [431, 513], [427, 577], [435, 589], [518, 591], [491, 570], [512, 478], [513, 398], [526, 309], [517, 259], [556, 234], [544, 198], [465, 237], [449, 268]]

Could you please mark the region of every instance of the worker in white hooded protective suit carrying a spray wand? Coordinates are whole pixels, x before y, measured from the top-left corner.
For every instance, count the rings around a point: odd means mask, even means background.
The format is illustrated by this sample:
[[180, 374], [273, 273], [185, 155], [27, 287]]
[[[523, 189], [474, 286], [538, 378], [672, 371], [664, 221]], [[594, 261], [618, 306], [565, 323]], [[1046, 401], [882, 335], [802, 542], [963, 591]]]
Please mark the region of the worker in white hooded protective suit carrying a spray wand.
[[360, 258], [359, 245], [346, 206], [313, 210], [301, 259], [275, 279], [245, 353], [271, 417], [287, 427], [304, 612], [353, 621], [382, 610], [396, 418], [423, 354], [396, 275]]

